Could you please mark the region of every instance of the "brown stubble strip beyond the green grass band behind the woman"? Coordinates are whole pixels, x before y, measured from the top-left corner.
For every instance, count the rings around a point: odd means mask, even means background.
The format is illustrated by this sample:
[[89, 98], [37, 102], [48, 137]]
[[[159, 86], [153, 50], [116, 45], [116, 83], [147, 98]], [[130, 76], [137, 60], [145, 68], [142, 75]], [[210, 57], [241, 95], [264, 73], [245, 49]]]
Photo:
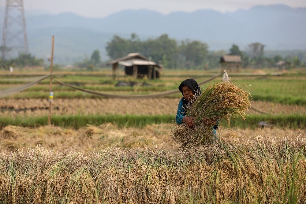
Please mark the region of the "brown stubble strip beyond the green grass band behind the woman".
[[[52, 114], [137, 114], [137, 115], [175, 115], [180, 98], [155, 99], [64, 99], [52, 101]], [[306, 106], [286, 105], [273, 102], [252, 101], [252, 107], [270, 114], [306, 114]], [[47, 99], [0, 99], [3, 115], [42, 116], [49, 113]], [[262, 114], [250, 109], [247, 114]]]

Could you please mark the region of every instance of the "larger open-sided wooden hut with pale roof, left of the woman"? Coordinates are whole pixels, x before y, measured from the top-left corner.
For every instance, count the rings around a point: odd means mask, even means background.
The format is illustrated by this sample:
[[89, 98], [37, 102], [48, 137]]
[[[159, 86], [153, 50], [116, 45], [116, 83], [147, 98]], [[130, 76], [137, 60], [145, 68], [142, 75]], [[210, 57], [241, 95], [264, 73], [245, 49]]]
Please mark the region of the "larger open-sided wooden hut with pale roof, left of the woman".
[[123, 65], [125, 68], [125, 75], [134, 76], [135, 78], [142, 78], [147, 76], [148, 79], [159, 78], [161, 65], [150, 61], [139, 53], [130, 53], [125, 57], [121, 57], [106, 65], [113, 66], [113, 78], [115, 79], [118, 72], [118, 65]]

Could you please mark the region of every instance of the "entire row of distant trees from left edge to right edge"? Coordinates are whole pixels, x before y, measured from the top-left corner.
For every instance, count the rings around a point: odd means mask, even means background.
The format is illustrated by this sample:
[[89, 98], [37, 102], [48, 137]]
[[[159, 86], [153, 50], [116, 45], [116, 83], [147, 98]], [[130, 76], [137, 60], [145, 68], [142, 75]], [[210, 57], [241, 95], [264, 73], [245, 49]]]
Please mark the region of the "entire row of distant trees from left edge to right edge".
[[[220, 57], [226, 54], [240, 55], [242, 68], [276, 67], [276, 63], [279, 61], [285, 61], [289, 68], [306, 67], [306, 51], [295, 52], [294, 55], [287, 54], [285, 57], [280, 54], [271, 56], [270, 53], [270, 56], [267, 57], [264, 52], [265, 45], [259, 42], [248, 44], [243, 51], [235, 44], [229, 48], [229, 51], [209, 51], [208, 48], [207, 43], [198, 40], [177, 41], [169, 38], [167, 34], [140, 40], [137, 34], [132, 33], [129, 39], [114, 35], [107, 42], [106, 52], [110, 57], [108, 61], [138, 52], [166, 69], [214, 69], [220, 66]], [[99, 50], [94, 50], [90, 58], [86, 57], [83, 61], [76, 62], [74, 66], [91, 71], [104, 67], [108, 61], [102, 61]], [[43, 65], [42, 58], [36, 58], [29, 53], [20, 53], [18, 57], [13, 59], [0, 58], [0, 68], [2, 69], [9, 69], [10, 66]], [[46, 67], [46, 69], [50, 69], [50, 67]], [[60, 66], [54, 65], [54, 69], [60, 69]]]

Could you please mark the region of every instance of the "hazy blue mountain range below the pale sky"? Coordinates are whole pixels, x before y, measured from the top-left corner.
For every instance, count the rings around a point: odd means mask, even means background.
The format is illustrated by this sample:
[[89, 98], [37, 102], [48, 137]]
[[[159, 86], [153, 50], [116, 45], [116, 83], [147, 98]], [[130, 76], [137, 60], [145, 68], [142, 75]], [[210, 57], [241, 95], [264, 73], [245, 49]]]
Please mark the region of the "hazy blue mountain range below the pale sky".
[[[4, 7], [0, 7], [2, 39]], [[58, 15], [43, 11], [27, 11], [26, 26], [30, 53], [46, 58], [51, 52], [54, 35], [54, 61], [71, 63], [90, 57], [99, 49], [105, 61], [106, 43], [113, 35], [140, 39], [168, 34], [177, 41], [200, 40], [209, 50], [228, 51], [232, 44], [244, 50], [248, 44], [260, 42], [265, 50], [306, 50], [306, 8], [291, 8], [282, 4], [255, 6], [248, 10], [221, 13], [211, 9], [192, 13], [174, 12], [163, 15], [151, 10], [123, 10], [105, 18], [86, 18], [74, 13]]]

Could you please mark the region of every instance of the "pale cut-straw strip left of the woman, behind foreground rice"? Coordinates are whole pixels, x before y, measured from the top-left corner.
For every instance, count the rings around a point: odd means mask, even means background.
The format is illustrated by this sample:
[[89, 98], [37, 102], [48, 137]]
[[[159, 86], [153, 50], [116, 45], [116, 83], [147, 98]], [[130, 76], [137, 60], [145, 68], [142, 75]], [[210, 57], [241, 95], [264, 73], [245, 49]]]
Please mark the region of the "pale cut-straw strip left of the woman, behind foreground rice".
[[0, 132], [0, 151], [16, 151], [41, 145], [49, 150], [75, 148], [89, 153], [106, 147], [160, 147], [174, 149], [170, 124], [152, 124], [145, 128], [118, 128], [110, 123], [75, 130], [55, 126], [25, 128], [6, 126]]

